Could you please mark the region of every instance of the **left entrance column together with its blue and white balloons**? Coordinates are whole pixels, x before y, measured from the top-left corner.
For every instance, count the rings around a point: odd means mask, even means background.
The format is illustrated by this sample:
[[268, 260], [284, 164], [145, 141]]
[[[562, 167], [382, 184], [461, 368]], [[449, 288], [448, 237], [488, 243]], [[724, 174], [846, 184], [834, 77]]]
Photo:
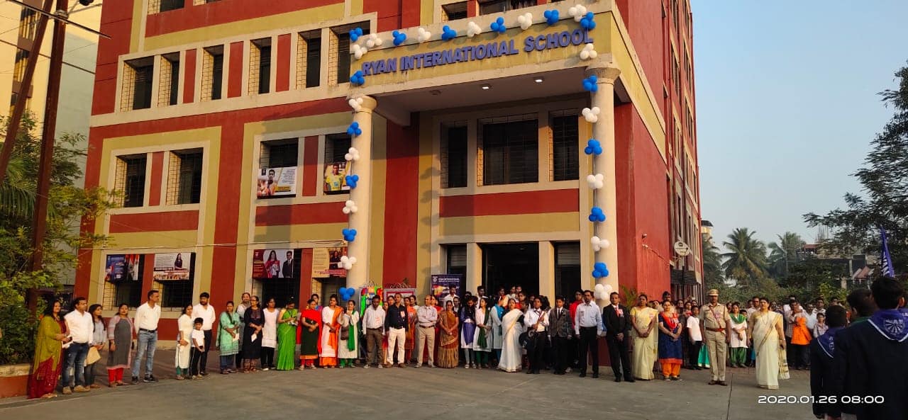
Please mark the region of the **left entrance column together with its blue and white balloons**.
[[360, 290], [369, 278], [369, 231], [370, 201], [372, 193], [372, 111], [376, 106], [370, 96], [350, 98], [353, 108], [353, 122], [350, 134], [350, 151], [346, 159], [350, 171], [347, 185], [350, 186], [350, 200], [344, 206], [344, 213], [350, 215], [348, 229], [343, 230], [347, 240], [347, 258], [341, 266], [347, 269], [347, 287]]

